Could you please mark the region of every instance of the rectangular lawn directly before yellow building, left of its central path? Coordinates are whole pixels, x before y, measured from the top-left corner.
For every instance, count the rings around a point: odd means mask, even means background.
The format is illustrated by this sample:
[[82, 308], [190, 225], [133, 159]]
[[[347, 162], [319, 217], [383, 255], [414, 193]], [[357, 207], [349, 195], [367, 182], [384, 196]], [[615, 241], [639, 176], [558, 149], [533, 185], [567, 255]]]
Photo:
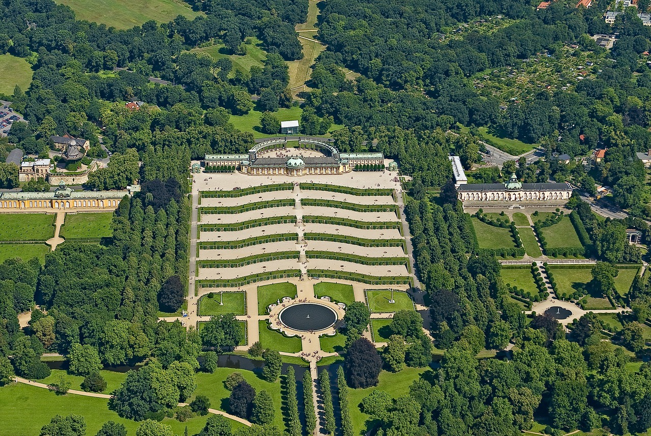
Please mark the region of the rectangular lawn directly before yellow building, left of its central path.
[[1, 213], [0, 241], [47, 241], [54, 236], [55, 215]]

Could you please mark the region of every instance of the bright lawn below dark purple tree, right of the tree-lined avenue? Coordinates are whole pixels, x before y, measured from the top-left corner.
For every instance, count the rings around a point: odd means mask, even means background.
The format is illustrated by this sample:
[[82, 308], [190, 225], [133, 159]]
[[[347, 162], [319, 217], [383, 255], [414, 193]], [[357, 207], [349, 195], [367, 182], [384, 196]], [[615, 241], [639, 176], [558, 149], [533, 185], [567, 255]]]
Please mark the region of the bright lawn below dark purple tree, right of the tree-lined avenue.
[[[400, 372], [387, 372], [380, 373], [380, 383], [378, 386], [367, 389], [351, 389], [348, 396], [348, 403], [350, 405], [350, 418], [353, 422], [353, 435], [364, 435], [367, 433], [367, 424], [369, 424], [368, 416], [360, 409], [360, 403], [364, 398], [370, 395], [374, 390], [383, 390], [387, 392], [392, 398], [409, 394], [409, 386], [414, 380], [419, 379], [422, 372], [427, 368], [404, 368]], [[330, 377], [336, 377], [335, 374], [330, 374]]]

